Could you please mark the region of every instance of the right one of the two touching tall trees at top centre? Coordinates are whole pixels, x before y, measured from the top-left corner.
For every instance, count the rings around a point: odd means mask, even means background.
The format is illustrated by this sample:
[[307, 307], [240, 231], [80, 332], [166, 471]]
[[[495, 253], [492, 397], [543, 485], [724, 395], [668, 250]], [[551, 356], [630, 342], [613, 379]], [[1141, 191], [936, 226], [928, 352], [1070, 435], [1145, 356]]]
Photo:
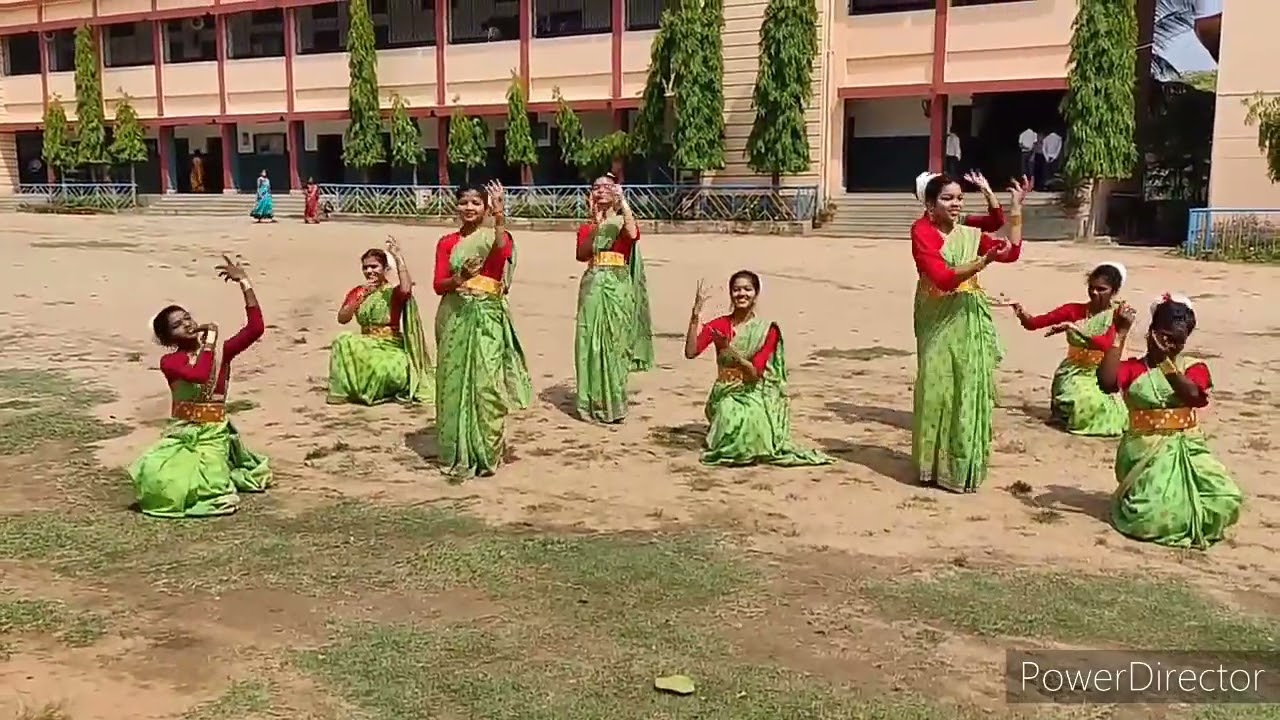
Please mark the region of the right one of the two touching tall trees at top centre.
[[672, 37], [676, 123], [673, 163], [690, 170], [724, 167], [723, 0], [685, 0]]

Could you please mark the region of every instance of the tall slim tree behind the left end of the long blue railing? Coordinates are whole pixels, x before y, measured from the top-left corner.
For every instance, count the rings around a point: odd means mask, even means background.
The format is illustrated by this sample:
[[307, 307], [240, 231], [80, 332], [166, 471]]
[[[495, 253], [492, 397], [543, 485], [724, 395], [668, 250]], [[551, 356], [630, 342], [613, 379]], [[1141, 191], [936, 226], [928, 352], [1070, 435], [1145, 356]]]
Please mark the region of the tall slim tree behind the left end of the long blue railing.
[[351, 0], [351, 29], [347, 32], [347, 69], [351, 86], [347, 111], [351, 119], [343, 135], [342, 161], [358, 168], [365, 182], [369, 169], [387, 161], [383, 140], [383, 111], [378, 96], [378, 49], [374, 45], [374, 19], [369, 0]]

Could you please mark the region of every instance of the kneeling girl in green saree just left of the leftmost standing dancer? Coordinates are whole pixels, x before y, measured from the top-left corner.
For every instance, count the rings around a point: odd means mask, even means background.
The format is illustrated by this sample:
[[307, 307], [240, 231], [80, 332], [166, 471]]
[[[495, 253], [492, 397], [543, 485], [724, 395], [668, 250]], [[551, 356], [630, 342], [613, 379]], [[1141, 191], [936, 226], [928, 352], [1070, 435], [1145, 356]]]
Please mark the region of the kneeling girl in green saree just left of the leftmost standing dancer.
[[[342, 333], [333, 341], [329, 402], [430, 402], [435, 377], [399, 243], [389, 238], [385, 252], [367, 250], [360, 264], [365, 284], [348, 292], [338, 310], [338, 322], [346, 325], [355, 318], [360, 334]], [[389, 274], [396, 275], [394, 286], [387, 282]]]

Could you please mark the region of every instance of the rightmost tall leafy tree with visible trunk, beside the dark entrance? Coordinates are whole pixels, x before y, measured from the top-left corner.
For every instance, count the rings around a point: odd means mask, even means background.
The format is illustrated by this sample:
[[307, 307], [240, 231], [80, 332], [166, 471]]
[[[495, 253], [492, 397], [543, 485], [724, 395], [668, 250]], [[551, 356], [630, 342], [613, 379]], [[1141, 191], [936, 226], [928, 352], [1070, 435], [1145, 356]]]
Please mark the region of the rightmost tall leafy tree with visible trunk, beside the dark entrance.
[[1100, 181], [1126, 178], [1138, 161], [1137, 47], [1138, 14], [1132, 1], [1080, 0], [1061, 111], [1070, 128], [1064, 169], [1069, 178], [1089, 187], [1084, 236], [1093, 234], [1102, 214]]

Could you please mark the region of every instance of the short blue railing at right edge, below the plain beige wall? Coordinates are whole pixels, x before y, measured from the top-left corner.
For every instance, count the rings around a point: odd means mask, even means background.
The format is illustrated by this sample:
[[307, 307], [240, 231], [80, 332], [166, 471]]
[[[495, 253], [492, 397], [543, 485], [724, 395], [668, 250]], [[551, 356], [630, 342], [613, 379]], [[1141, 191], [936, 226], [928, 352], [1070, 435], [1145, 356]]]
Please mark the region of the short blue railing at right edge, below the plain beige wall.
[[1280, 260], [1280, 210], [1196, 208], [1187, 222], [1188, 258]]

